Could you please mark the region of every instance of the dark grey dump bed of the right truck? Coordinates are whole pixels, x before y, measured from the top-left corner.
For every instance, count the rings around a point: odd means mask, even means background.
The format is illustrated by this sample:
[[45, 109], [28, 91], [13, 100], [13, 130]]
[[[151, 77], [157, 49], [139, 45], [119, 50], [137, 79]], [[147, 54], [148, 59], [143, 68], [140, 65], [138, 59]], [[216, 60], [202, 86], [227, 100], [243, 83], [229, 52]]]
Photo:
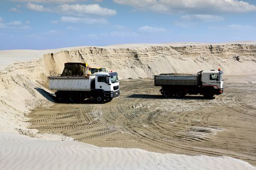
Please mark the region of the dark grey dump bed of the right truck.
[[160, 74], [155, 76], [155, 86], [198, 85], [196, 74]]

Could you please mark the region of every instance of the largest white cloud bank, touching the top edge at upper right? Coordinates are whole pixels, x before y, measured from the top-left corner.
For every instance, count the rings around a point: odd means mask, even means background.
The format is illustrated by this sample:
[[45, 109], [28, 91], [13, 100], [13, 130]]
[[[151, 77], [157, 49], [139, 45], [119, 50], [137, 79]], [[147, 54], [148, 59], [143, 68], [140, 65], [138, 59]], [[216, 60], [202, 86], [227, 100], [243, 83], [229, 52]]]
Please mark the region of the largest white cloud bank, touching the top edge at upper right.
[[256, 11], [256, 5], [239, 0], [114, 0], [136, 9], [155, 12], [230, 13]]

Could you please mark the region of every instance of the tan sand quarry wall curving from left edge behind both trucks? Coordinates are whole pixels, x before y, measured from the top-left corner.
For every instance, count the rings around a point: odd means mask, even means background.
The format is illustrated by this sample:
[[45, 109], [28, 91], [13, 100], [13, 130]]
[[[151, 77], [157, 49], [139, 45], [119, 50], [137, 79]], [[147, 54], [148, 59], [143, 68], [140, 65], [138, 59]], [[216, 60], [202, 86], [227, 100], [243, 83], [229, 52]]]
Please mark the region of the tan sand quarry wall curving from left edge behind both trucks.
[[225, 74], [252, 74], [256, 73], [256, 44], [80, 47], [9, 65], [0, 70], [0, 132], [38, 136], [36, 130], [26, 129], [24, 114], [54, 104], [41, 88], [47, 89], [47, 76], [60, 74], [66, 62], [117, 71], [121, 79], [217, 68]]

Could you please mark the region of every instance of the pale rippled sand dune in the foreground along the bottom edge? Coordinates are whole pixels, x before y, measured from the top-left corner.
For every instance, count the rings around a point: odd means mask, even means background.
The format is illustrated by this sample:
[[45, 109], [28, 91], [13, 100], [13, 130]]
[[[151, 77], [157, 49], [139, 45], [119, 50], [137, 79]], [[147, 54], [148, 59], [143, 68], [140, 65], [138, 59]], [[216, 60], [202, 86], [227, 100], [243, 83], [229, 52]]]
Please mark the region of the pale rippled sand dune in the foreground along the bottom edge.
[[161, 154], [98, 148], [76, 141], [47, 141], [0, 134], [1, 170], [255, 170], [231, 157]]

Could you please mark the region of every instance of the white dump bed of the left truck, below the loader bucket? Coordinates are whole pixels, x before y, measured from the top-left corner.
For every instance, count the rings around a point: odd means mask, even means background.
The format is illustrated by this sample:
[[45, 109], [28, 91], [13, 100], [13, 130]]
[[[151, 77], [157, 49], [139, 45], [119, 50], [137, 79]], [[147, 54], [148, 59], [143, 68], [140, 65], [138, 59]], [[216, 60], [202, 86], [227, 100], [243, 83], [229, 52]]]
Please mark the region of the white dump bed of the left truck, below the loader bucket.
[[64, 91], [90, 91], [91, 82], [95, 81], [95, 76], [88, 77], [57, 77], [50, 76], [49, 88], [51, 90]]

